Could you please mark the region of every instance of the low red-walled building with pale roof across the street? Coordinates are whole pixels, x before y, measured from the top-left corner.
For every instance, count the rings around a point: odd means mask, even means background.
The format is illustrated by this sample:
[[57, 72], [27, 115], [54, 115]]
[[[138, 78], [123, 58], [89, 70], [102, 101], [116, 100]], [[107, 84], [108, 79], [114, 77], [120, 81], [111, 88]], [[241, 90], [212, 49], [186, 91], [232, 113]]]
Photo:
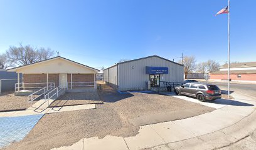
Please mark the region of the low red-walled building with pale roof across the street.
[[[228, 64], [220, 67], [220, 71], [210, 73], [210, 79], [227, 80]], [[232, 81], [256, 81], [256, 62], [230, 64], [230, 79]]]

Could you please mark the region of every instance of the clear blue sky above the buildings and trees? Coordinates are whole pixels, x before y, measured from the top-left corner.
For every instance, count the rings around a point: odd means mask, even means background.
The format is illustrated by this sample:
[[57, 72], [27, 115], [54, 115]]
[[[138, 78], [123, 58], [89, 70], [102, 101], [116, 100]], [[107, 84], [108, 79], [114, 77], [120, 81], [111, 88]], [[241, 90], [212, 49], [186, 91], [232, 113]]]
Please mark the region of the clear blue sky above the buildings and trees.
[[[256, 61], [255, 5], [231, 0], [231, 61]], [[223, 64], [227, 14], [215, 13], [225, 6], [227, 0], [1, 0], [0, 53], [22, 42], [95, 68], [181, 53]]]

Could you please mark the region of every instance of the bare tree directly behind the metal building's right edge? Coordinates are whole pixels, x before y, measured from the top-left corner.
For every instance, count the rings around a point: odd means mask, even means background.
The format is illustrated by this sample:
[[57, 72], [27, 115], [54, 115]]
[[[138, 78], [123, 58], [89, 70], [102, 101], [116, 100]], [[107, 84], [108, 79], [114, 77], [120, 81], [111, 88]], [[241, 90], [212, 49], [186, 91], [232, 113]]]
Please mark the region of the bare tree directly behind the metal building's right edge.
[[[179, 61], [181, 64], [182, 62]], [[189, 73], [192, 73], [196, 69], [196, 59], [194, 56], [185, 56], [183, 58], [183, 65], [184, 65], [184, 74], [185, 79], [187, 78]]]

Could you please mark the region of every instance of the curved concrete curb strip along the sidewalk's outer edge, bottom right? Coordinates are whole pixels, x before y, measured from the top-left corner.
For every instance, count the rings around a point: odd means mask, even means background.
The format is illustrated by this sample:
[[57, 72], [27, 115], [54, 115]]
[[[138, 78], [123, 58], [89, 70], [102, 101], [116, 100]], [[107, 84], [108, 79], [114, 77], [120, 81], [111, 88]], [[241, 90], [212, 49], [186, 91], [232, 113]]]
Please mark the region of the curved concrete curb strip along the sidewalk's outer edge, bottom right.
[[[236, 93], [238, 94], [238, 93]], [[256, 130], [256, 109], [232, 126], [195, 138], [162, 144], [148, 149], [220, 149], [238, 143]]]

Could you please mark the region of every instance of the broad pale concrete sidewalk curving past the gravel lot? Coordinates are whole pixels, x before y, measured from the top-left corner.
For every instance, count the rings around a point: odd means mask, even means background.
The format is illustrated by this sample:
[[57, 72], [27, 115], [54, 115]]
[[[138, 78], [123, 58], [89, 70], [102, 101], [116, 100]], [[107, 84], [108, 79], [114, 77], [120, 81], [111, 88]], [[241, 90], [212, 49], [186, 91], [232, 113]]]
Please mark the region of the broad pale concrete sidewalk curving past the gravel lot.
[[[72, 146], [54, 149], [215, 149], [235, 143], [256, 129], [256, 101], [235, 100], [216, 106], [211, 113], [166, 123], [141, 126], [139, 134], [122, 138], [85, 138]], [[180, 97], [183, 99], [183, 97]], [[186, 97], [186, 100], [187, 99]], [[189, 100], [191, 101], [191, 99]], [[221, 107], [220, 107], [221, 106]]]

